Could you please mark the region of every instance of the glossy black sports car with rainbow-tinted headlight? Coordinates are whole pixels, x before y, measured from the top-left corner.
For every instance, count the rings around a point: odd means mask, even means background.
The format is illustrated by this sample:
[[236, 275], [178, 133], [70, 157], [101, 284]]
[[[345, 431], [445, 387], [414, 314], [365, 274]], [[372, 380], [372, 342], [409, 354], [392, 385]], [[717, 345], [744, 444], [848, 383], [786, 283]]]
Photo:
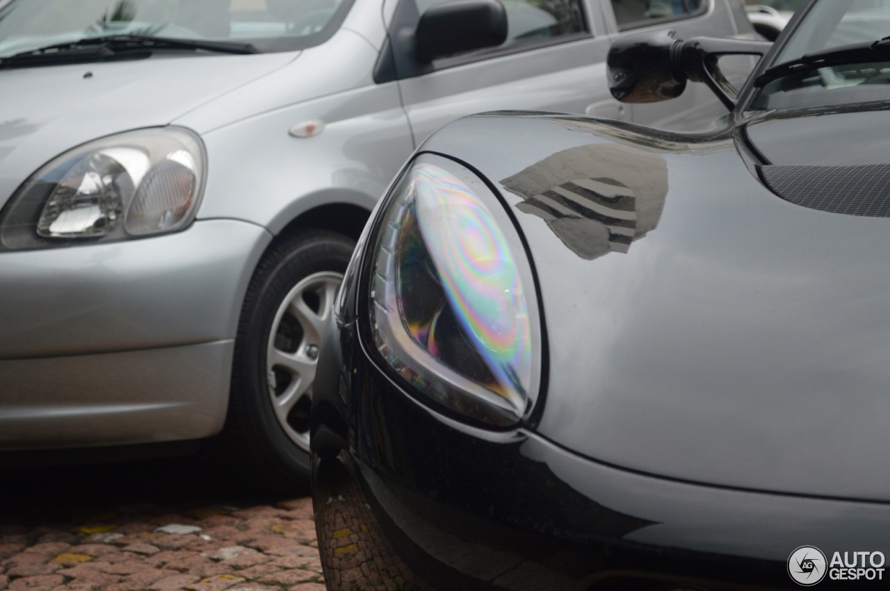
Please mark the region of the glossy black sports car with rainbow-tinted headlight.
[[328, 588], [886, 586], [887, 35], [890, 2], [813, 0], [774, 46], [638, 36], [616, 98], [701, 81], [729, 115], [418, 148], [320, 359]]

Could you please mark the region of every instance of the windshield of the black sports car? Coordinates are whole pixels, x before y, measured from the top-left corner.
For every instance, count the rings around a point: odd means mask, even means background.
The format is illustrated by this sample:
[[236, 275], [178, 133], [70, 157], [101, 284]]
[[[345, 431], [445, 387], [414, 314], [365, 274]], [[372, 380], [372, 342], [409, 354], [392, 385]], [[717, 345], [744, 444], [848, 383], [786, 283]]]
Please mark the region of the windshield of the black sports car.
[[[751, 108], [809, 108], [890, 100], [890, 0], [813, 5], [765, 71]], [[820, 53], [820, 60], [807, 57]], [[793, 65], [793, 68], [789, 68]]]

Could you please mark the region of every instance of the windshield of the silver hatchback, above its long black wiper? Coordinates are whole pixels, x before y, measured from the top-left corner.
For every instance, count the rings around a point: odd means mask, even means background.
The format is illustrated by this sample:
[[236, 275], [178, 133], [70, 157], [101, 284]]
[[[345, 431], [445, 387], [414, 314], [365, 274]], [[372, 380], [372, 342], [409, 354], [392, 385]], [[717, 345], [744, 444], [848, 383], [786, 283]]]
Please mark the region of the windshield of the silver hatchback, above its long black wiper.
[[261, 52], [324, 40], [348, 0], [0, 0], [0, 58], [109, 35], [237, 41]]

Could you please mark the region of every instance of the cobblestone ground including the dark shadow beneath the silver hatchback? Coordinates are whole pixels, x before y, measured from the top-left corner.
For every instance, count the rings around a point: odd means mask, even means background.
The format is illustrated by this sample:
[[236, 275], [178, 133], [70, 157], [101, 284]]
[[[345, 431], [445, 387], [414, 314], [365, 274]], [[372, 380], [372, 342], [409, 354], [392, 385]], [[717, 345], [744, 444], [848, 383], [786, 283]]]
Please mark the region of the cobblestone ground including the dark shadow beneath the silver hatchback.
[[312, 500], [236, 481], [193, 459], [0, 468], [0, 591], [324, 591]]

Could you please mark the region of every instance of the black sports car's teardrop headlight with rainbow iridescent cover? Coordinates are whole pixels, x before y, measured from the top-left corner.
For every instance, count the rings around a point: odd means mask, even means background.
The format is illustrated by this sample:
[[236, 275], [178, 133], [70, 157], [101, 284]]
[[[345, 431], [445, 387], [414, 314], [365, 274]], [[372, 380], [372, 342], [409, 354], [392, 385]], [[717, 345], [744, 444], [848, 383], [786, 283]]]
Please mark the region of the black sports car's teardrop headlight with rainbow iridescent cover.
[[541, 330], [530, 262], [473, 172], [422, 155], [393, 188], [370, 278], [376, 347], [409, 390], [496, 426], [538, 392]]

